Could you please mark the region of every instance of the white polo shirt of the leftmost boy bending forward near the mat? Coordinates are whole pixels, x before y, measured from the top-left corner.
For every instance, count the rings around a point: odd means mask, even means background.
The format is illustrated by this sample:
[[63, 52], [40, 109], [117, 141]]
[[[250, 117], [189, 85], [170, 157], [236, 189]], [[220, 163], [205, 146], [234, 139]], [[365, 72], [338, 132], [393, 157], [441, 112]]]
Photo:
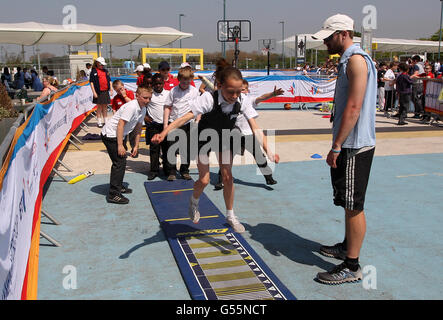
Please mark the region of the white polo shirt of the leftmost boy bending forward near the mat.
[[117, 125], [120, 119], [125, 120], [123, 139], [134, 130], [137, 123], [143, 124], [146, 115], [146, 108], [140, 108], [137, 99], [129, 101], [120, 107], [117, 112], [103, 126], [102, 134], [108, 138], [117, 137]]

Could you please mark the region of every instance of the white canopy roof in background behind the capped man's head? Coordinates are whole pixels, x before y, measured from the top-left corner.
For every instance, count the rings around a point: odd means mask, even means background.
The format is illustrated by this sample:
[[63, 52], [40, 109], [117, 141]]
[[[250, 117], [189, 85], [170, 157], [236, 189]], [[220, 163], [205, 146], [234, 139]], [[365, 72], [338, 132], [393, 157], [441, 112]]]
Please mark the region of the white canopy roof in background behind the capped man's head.
[[[323, 40], [312, 39], [312, 34], [299, 34], [299, 37], [306, 36], [306, 49], [326, 50]], [[361, 39], [354, 37], [354, 43], [360, 43]], [[282, 41], [279, 41], [281, 44]], [[377, 44], [377, 51], [391, 52], [411, 52], [411, 53], [435, 53], [438, 52], [438, 41], [406, 40], [389, 38], [372, 38], [372, 43]], [[295, 49], [295, 36], [284, 40], [286, 48]]]

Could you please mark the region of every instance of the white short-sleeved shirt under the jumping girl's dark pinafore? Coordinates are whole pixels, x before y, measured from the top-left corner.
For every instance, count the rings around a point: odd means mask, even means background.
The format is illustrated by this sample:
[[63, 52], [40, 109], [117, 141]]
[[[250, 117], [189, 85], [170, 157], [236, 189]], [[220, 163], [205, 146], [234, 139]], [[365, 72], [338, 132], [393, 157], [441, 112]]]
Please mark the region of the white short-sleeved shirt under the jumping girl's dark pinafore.
[[[240, 102], [241, 108], [235, 125], [240, 129], [242, 134], [252, 134], [248, 120], [258, 117], [258, 113], [253, 107], [255, 98], [248, 97], [242, 93], [237, 101]], [[220, 90], [218, 90], [218, 103], [221, 105], [222, 112], [224, 113], [230, 113], [234, 108], [234, 103], [229, 104], [226, 102]], [[197, 99], [192, 100], [189, 105], [194, 116], [198, 116], [199, 114], [211, 112], [214, 107], [214, 98], [211, 93], [205, 92], [197, 97]], [[243, 120], [241, 120], [242, 118]]]

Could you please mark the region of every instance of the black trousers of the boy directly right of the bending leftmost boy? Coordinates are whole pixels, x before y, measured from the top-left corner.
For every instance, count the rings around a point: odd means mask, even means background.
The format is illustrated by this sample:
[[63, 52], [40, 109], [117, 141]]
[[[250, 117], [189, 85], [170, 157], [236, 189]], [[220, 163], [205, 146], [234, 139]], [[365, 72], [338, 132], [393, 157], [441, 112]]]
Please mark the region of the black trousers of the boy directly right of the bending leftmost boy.
[[146, 145], [149, 145], [149, 158], [151, 161], [151, 172], [157, 173], [160, 170], [160, 151], [162, 153], [163, 171], [166, 175], [169, 174], [171, 165], [168, 162], [168, 144], [166, 140], [160, 144], [151, 143], [151, 139], [157, 133], [163, 131], [163, 123], [151, 122], [146, 125]]

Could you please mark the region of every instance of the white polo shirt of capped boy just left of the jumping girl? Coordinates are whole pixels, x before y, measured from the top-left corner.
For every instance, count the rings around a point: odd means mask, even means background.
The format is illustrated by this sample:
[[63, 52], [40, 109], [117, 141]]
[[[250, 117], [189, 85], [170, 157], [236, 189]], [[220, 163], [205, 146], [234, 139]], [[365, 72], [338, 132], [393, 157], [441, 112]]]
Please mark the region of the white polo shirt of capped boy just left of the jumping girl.
[[[169, 122], [177, 120], [191, 111], [189, 102], [199, 96], [199, 91], [193, 86], [189, 86], [188, 89], [182, 90], [180, 85], [172, 88], [169, 91], [169, 95], [166, 98], [165, 106], [171, 107], [171, 113], [169, 115]], [[189, 123], [190, 121], [186, 122]]]

